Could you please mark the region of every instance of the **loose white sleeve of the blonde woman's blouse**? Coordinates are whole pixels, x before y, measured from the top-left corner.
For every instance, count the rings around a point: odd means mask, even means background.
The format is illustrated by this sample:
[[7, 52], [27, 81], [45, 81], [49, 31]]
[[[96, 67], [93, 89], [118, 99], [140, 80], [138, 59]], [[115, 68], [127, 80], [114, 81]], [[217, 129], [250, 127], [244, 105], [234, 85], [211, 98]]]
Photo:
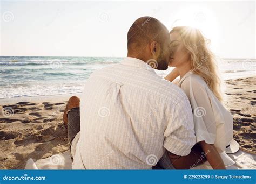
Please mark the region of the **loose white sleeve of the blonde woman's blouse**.
[[207, 93], [205, 85], [197, 79], [188, 77], [187, 80], [183, 81], [181, 88], [190, 98], [193, 110], [194, 131], [197, 138], [196, 142], [204, 140], [207, 144], [214, 144], [217, 125], [210, 94]]

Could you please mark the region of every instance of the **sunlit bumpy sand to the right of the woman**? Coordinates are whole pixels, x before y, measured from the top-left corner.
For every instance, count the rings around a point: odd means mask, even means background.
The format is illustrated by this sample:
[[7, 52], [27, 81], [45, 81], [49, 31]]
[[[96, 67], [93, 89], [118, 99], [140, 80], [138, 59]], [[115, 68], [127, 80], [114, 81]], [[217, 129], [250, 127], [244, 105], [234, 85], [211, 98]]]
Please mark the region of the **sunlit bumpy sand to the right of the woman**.
[[256, 77], [226, 81], [225, 107], [234, 117], [234, 139], [256, 151]]

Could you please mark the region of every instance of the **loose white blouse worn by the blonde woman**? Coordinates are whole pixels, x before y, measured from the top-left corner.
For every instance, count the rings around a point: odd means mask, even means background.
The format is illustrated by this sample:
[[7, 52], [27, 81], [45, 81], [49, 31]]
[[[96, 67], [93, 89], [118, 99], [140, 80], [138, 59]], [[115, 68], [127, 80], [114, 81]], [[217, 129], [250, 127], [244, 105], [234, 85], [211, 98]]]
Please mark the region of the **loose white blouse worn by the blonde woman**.
[[[225, 148], [233, 139], [233, 116], [220, 103], [208, 88], [206, 82], [190, 70], [177, 83], [190, 100], [193, 111], [194, 131], [196, 141], [214, 144], [224, 161], [225, 166], [235, 162], [225, 153]], [[208, 162], [206, 165], [210, 165]]]

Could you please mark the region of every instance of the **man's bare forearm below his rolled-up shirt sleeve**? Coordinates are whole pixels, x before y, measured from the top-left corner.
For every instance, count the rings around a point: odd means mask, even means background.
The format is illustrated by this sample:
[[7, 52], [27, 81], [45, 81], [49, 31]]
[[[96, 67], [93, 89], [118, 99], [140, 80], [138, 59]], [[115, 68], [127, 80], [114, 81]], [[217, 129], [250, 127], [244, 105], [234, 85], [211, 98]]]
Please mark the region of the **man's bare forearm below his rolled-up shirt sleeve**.
[[179, 156], [169, 151], [168, 155], [173, 167], [176, 169], [190, 169], [207, 161], [204, 151], [198, 144], [194, 145], [190, 154], [186, 156]]

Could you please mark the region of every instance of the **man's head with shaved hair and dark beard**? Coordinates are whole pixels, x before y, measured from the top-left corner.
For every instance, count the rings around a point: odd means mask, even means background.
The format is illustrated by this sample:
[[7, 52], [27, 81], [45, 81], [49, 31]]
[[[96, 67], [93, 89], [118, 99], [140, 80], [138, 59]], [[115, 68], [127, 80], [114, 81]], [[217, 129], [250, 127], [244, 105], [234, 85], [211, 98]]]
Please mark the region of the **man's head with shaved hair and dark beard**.
[[153, 68], [166, 70], [170, 57], [170, 35], [167, 28], [153, 17], [140, 17], [127, 34], [127, 56], [147, 62]]

